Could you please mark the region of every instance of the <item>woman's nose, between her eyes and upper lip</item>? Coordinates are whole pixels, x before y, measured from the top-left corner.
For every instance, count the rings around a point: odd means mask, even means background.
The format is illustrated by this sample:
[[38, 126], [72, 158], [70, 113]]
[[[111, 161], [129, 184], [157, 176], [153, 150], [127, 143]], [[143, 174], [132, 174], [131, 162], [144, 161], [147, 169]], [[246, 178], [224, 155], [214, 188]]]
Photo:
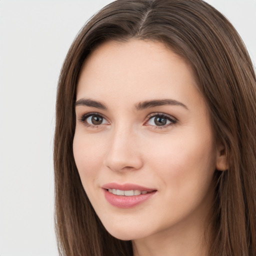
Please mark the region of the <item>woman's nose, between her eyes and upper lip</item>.
[[137, 170], [143, 165], [138, 134], [128, 128], [116, 128], [108, 140], [104, 165], [113, 171]]

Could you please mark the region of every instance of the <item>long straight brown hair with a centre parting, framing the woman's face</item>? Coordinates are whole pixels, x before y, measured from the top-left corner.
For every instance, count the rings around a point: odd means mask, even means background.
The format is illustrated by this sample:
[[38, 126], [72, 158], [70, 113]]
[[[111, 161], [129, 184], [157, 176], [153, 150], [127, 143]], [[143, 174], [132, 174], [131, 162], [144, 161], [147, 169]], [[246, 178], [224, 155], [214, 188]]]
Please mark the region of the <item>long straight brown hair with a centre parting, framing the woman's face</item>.
[[228, 169], [216, 170], [211, 256], [256, 255], [256, 81], [250, 57], [229, 21], [202, 0], [117, 0], [74, 39], [57, 89], [54, 138], [55, 228], [66, 256], [132, 255], [95, 214], [75, 166], [74, 103], [82, 63], [100, 43], [161, 41], [193, 68]]

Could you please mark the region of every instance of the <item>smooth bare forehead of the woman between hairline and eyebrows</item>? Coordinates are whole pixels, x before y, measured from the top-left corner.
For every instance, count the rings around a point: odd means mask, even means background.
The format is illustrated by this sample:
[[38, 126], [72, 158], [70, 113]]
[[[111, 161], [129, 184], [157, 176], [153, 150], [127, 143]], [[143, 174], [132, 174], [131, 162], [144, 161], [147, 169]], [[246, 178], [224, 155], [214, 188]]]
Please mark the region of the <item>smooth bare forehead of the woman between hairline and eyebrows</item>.
[[131, 102], [171, 97], [198, 102], [190, 65], [163, 43], [132, 39], [108, 41], [84, 61], [77, 84], [77, 99]]

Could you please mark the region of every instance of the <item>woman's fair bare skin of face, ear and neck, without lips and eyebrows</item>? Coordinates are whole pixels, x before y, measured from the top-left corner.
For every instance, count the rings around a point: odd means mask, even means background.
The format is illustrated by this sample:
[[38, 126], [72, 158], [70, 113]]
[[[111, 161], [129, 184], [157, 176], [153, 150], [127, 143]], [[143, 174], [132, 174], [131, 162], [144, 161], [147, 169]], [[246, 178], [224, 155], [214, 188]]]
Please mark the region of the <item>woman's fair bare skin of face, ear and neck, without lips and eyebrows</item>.
[[[75, 107], [74, 159], [108, 232], [132, 240], [136, 256], [207, 255], [204, 232], [213, 200], [212, 176], [216, 167], [224, 169], [225, 156], [213, 139], [189, 64], [160, 42], [109, 41], [82, 66], [76, 100], [85, 98], [107, 109]], [[183, 105], [135, 109], [138, 102], [153, 99]], [[101, 124], [81, 121], [91, 112], [103, 117]], [[175, 121], [156, 125], [150, 116], [162, 113]], [[118, 208], [104, 197], [101, 186], [109, 182], [157, 191], [135, 207]]]

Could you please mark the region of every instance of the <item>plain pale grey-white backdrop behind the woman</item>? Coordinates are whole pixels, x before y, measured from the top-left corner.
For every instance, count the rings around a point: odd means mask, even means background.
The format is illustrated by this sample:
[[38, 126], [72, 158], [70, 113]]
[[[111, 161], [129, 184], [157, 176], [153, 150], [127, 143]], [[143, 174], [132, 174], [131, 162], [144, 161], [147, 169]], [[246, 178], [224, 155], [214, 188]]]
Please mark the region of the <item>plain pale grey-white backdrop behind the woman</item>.
[[[54, 104], [74, 36], [111, 0], [0, 0], [0, 256], [56, 256]], [[256, 0], [208, 0], [256, 63]]]

